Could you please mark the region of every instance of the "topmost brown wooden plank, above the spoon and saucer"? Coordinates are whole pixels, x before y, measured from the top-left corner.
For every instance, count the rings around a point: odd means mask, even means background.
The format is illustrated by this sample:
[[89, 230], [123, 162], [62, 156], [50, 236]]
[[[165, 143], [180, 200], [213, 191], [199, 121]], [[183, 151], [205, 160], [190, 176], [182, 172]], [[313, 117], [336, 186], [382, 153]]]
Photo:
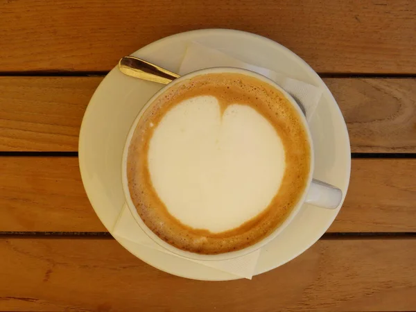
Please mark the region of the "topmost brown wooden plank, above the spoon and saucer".
[[198, 28], [270, 37], [319, 72], [416, 73], [413, 0], [3, 1], [1, 71], [108, 71]]

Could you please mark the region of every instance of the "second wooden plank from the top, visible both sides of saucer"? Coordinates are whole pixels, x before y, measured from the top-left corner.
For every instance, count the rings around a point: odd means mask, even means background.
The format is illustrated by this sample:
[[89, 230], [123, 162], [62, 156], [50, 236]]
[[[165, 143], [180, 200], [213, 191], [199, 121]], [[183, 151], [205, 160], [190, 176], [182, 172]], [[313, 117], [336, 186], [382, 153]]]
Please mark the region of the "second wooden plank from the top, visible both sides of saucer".
[[[81, 119], [101, 79], [0, 77], [0, 150], [78, 150]], [[324, 82], [343, 111], [353, 153], [416, 153], [416, 79]]]

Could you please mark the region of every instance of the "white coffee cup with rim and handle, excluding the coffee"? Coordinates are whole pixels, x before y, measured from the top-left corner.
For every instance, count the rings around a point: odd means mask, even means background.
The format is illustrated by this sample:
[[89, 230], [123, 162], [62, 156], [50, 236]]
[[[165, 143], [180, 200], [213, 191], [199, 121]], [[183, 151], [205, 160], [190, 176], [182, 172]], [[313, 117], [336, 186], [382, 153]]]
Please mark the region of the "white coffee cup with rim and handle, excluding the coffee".
[[[295, 207], [293, 207], [291, 213], [288, 215], [288, 217], [284, 220], [283, 223], [277, 229], [275, 229], [272, 234], [269, 236], [266, 236], [261, 241], [254, 243], [253, 245], [248, 246], [247, 248], [244, 248], [242, 250], [237, 250], [234, 252], [225, 252], [223, 254], [196, 254], [193, 252], [187, 252], [184, 250], [180, 250], [178, 248], [175, 248], [173, 245], [170, 245], [159, 238], [152, 230], [150, 230], [143, 220], [141, 220], [141, 217], [139, 216], [137, 209], [135, 208], [135, 205], [132, 202], [130, 191], [128, 188], [128, 178], [127, 178], [127, 158], [128, 158], [128, 148], [130, 146], [130, 141], [132, 140], [133, 134], [135, 132], [135, 129], [137, 127], [137, 123], [139, 123], [141, 116], [146, 111], [148, 106], [155, 101], [155, 99], [166, 91], [166, 89], [169, 89], [173, 87], [173, 85], [180, 83], [182, 80], [187, 80], [190, 78], [193, 78], [195, 76], [200, 76], [207, 73], [242, 73], [246, 76], [251, 76], [254, 78], [257, 78], [265, 83], [268, 83], [272, 87], [275, 87], [275, 89], [278, 89], [286, 98], [288, 101], [293, 105], [295, 108], [297, 114], [300, 116], [300, 120], [302, 120], [302, 123], [304, 123], [304, 128], [307, 132], [307, 137], [309, 140], [309, 146], [311, 148], [311, 166], [308, 174], [308, 182], [306, 184], [306, 188], [304, 189], [304, 192], [302, 193], [302, 196], [300, 197], [300, 200], [297, 202]], [[169, 252], [173, 252], [174, 254], [177, 254], [181, 257], [189, 258], [189, 259], [196, 259], [196, 260], [202, 260], [202, 261], [220, 261], [220, 260], [227, 260], [227, 259], [233, 259], [236, 257], [241, 257], [245, 254], [249, 254], [250, 252], [253, 252], [254, 250], [257, 250], [261, 248], [263, 245], [266, 245], [268, 242], [272, 241], [272, 239], [275, 239], [275, 237], [283, 231], [283, 229], [291, 223], [293, 218], [296, 216], [296, 214], [300, 211], [302, 205], [304, 203], [308, 203], [310, 205], [315, 205], [318, 207], [326, 208], [326, 209], [336, 209], [343, 198], [343, 193], [340, 189], [333, 187], [330, 184], [327, 184], [325, 182], [315, 180], [313, 179], [313, 164], [314, 164], [314, 155], [313, 155], [313, 141], [311, 139], [311, 132], [309, 130], [309, 125], [306, 122], [306, 118], [297, 104], [297, 102], [292, 98], [291, 95], [289, 95], [284, 89], [281, 89], [279, 85], [274, 83], [269, 78], [266, 78], [265, 76], [260, 75], [259, 73], [254, 73], [252, 71], [248, 71], [245, 69], [236, 69], [232, 67], [216, 67], [216, 68], [210, 68], [210, 69], [202, 69], [200, 71], [194, 71], [192, 73], [188, 73], [187, 75], [184, 75], [180, 78], [177, 78], [173, 80], [171, 83], [163, 87], [159, 90], [144, 107], [141, 109], [139, 114], [137, 115], [134, 123], [132, 123], [132, 126], [130, 128], [130, 131], [128, 133], [127, 139], [125, 140], [125, 146], [123, 150], [123, 160], [122, 160], [122, 182], [123, 182], [123, 191], [125, 194], [125, 202], [127, 207], [130, 209], [132, 216], [135, 218], [141, 229], [150, 237], [150, 239], [153, 239], [155, 243], [162, 246], [162, 248], [166, 249]]]

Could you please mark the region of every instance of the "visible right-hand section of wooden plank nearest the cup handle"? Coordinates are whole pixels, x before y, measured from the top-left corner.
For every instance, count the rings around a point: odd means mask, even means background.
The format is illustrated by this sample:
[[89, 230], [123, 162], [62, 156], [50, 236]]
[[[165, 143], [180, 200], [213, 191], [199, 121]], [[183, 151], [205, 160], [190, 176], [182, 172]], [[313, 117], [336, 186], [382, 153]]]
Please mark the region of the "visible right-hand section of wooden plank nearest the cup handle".
[[329, 232], [416, 232], [416, 159], [352, 159], [347, 198]]

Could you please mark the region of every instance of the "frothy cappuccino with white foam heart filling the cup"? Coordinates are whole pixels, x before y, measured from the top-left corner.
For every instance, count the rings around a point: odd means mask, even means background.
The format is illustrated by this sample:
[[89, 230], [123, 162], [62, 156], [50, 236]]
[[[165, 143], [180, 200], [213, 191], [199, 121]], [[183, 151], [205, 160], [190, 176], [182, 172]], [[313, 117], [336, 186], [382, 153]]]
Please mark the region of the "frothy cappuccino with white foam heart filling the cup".
[[275, 231], [308, 182], [311, 148], [278, 89], [242, 73], [174, 84], [130, 141], [130, 197], [167, 243], [199, 254], [246, 248]]

